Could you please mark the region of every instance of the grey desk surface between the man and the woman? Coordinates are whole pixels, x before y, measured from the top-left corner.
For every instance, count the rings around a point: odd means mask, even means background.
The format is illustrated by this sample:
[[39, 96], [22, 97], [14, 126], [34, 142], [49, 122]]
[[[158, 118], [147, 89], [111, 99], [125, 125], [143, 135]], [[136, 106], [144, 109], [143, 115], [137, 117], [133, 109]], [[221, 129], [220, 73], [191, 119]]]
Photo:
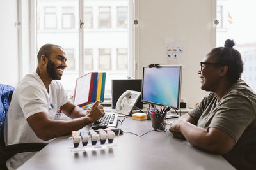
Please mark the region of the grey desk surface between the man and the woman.
[[[131, 117], [119, 127], [139, 135], [152, 130], [150, 121]], [[77, 153], [70, 152], [67, 138], [54, 139], [19, 169], [234, 169], [220, 155], [198, 150], [169, 131], [152, 131], [141, 138], [124, 133], [116, 137], [113, 148]]]

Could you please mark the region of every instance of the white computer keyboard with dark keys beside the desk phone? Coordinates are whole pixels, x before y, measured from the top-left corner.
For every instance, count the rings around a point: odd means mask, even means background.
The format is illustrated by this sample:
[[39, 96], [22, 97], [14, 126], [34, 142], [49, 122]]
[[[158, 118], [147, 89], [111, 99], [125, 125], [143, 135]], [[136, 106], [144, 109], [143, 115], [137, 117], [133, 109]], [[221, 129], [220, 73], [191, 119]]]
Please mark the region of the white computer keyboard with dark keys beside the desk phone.
[[90, 129], [105, 129], [106, 127], [117, 127], [118, 114], [106, 113], [103, 117], [99, 118], [97, 122], [94, 122]]

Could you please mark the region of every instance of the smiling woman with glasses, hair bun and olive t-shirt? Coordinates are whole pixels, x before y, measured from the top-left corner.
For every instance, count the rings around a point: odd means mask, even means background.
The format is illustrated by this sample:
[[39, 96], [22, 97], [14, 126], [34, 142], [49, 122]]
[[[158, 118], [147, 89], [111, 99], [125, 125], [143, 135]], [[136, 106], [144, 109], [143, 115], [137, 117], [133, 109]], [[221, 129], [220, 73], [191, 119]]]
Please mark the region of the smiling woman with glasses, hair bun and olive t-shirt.
[[256, 169], [256, 94], [240, 79], [243, 61], [233, 46], [227, 39], [200, 62], [201, 89], [211, 93], [169, 130], [236, 169]]

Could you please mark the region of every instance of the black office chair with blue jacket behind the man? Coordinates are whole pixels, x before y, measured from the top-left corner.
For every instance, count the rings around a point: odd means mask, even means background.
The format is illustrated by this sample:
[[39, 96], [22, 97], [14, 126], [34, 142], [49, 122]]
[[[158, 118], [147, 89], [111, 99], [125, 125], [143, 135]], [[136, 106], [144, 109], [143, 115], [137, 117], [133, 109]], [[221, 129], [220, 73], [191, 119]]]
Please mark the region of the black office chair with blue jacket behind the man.
[[13, 157], [13, 155], [23, 152], [39, 151], [47, 145], [47, 143], [19, 143], [8, 146], [5, 145], [3, 135], [4, 120], [9, 109], [14, 89], [15, 88], [10, 85], [0, 84], [0, 169], [7, 169], [5, 162]]

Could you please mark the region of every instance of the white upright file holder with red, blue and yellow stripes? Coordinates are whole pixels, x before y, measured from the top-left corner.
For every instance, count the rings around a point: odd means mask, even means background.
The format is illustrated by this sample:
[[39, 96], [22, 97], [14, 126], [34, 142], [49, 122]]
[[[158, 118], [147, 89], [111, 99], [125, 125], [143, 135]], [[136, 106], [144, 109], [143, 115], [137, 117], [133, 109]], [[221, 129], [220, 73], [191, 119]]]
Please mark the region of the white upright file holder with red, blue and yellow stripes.
[[92, 106], [95, 101], [104, 101], [106, 72], [91, 72], [77, 78], [74, 104], [82, 108]]

